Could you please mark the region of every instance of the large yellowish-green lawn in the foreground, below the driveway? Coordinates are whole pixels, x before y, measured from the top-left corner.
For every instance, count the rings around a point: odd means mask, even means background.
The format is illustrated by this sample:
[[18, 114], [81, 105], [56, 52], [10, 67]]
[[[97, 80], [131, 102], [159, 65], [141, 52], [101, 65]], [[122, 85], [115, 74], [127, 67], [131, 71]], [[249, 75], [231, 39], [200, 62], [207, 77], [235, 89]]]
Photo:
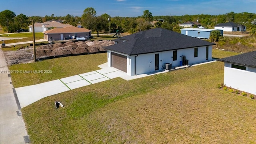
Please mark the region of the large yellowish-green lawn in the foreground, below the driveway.
[[216, 88], [223, 71], [214, 62], [115, 78], [46, 97], [22, 115], [32, 144], [255, 143], [256, 101]]

